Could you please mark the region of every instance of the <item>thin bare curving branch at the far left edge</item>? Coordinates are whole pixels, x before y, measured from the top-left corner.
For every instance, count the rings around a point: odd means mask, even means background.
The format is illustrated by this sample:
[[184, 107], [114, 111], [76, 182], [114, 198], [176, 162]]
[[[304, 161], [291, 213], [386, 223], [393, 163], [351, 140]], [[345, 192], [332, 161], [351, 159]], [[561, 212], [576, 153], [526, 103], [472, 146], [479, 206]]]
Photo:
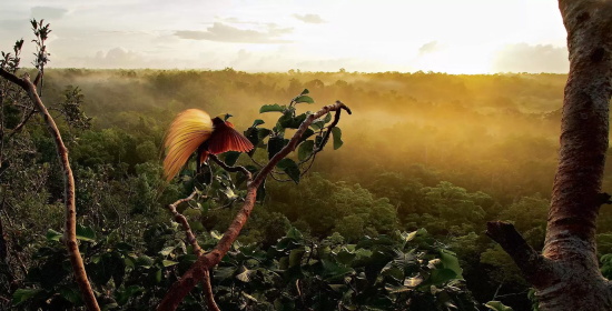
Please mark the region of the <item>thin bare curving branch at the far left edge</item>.
[[53, 121], [51, 114], [40, 100], [40, 97], [37, 93], [36, 86], [32, 84], [28, 74], [22, 79], [17, 76], [3, 70], [0, 68], [0, 76], [4, 79], [11, 81], [12, 83], [21, 87], [27, 93], [37, 110], [45, 119], [47, 129], [53, 137], [58, 158], [61, 163], [63, 171], [63, 182], [65, 182], [65, 200], [66, 200], [66, 228], [63, 232], [63, 242], [68, 249], [68, 254], [70, 257], [70, 263], [72, 264], [72, 271], [75, 272], [75, 279], [79, 289], [81, 291], [81, 297], [83, 299], [87, 309], [90, 311], [100, 310], [98, 302], [96, 301], [96, 295], [91, 290], [91, 284], [87, 279], [87, 273], [85, 271], [85, 264], [79, 252], [79, 244], [77, 242], [77, 209], [75, 202], [75, 177], [72, 175], [72, 169], [70, 168], [70, 161], [68, 160], [68, 150], [63, 144], [61, 139], [61, 133]]

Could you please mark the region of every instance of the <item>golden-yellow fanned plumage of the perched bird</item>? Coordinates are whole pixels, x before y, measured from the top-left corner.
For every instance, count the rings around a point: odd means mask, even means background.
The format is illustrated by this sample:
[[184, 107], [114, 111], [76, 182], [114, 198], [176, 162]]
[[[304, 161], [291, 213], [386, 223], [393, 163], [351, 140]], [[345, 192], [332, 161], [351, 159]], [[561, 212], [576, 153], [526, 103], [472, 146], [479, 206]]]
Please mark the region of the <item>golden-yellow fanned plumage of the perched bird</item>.
[[179, 113], [172, 123], [164, 147], [164, 177], [170, 181], [187, 163], [189, 157], [204, 143], [213, 132], [213, 121], [208, 113], [198, 109], [188, 109]]

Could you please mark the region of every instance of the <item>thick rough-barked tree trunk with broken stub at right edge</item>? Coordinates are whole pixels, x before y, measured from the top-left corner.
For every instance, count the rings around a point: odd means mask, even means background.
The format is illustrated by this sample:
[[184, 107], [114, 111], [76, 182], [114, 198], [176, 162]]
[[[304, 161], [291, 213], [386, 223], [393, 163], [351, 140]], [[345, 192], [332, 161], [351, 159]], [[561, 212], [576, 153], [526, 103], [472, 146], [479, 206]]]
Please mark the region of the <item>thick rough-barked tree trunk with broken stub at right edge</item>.
[[599, 209], [610, 199], [600, 192], [610, 133], [612, 0], [560, 0], [559, 8], [570, 74], [544, 250], [533, 250], [509, 223], [490, 222], [487, 234], [536, 289], [541, 310], [612, 310], [595, 249]]

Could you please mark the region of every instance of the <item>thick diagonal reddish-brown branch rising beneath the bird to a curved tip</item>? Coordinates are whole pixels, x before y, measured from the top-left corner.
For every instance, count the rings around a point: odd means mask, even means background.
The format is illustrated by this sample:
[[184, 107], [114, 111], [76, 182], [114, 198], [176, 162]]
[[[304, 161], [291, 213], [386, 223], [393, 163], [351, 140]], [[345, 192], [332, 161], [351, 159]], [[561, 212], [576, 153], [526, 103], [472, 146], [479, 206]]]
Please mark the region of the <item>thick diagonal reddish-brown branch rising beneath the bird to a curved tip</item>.
[[[227, 231], [224, 233], [223, 238], [219, 240], [215, 249], [213, 251], [200, 255], [198, 260], [182, 274], [180, 280], [176, 281], [170, 290], [166, 293], [166, 297], [161, 301], [161, 303], [158, 305], [157, 310], [176, 310], [178, 304], [185, 299], [185, 297], [194, 289], [194, 287], [197, 284], [199, 280], [203, 280], [206, 278], [207, 271], [217, 265], [221, 259], [225, 257], [225, 254], [229, 251], [231, 244], [236, 239], [238, 238], [238, 234], [240, 233], [240, 230], [247, 222], [250, 212], [253, 211], [253, 208], [255, 205], [255, 201], [257, 198], [257, 189], [264, 182], [266, 177], [272, 172], [274, 167], [289, 152], [294, 151], [296, 146], [299, 142], [299, 139], [304, 134], [304, 132], [308, 129], [308, 127], [313, 123], [314, 120], [323, 117], [324, 114], [328, 113], [329, 111], [338, 111], [338, 110], [346, 110], [348, 114], [351, 114], [351, 109], [346, 107], [340, 101], [336, 101], [334, 104], [325, 106], [316, 113], [313, 113], [302, 122], [297, 131], [294, 133], [293, 138], [289, 140], [289, 143], [285, 146], [278, 153], [276, 153], [269, 162], [261, 168], [259, 173], [255, 177], [255, 179], [250, 179], [250, 174], [247, 175], [248, 182], [247, 182], [247, 194], [245, 198], [245, 202], [243, 203], [243, 207], [234, 218], [234, 221], [229, 224]], [[220, 161], [219, 161], [220, 162]], [[225, 164], [225, 163], [224, 163]]]

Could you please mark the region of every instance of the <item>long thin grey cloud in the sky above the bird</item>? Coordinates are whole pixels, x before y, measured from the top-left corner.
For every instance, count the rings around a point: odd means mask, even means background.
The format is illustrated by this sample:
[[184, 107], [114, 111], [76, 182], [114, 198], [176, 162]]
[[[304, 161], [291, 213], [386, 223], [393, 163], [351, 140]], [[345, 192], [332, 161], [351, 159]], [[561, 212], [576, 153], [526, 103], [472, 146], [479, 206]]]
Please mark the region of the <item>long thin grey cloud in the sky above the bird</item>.
[[278, 28], [275, 24], [266, 24], [265, 31], [239, 29], [223, 22], [215, 22], [205, 31], [179, 30], [175, 36], [181, 39], [208, 40], [218, 42], [240, 43], [289, 43], [292, 41], [279, 39], [283, 34], [292, 33], [292, 28]]

